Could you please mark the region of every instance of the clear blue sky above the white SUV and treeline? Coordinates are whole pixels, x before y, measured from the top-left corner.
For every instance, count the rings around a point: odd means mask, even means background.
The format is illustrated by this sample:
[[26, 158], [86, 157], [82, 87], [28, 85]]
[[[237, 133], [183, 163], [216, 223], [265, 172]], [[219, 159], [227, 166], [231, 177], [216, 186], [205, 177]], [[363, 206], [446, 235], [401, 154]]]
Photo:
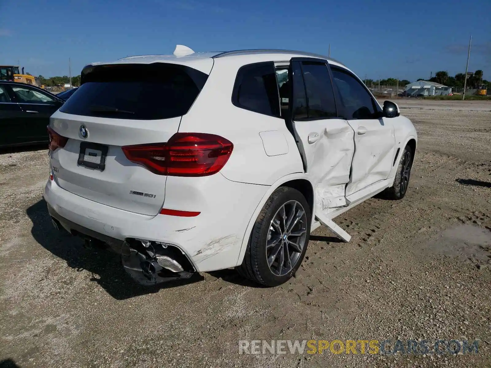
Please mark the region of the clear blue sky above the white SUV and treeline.
[[[468, 3], [468, 5], [466, 4]], [[491, 80], [490, 0], [0, 0], [0, 64], [45, 77], [127, 55], [293, 49], [327, 54], [362, 79], [482, 69]]]

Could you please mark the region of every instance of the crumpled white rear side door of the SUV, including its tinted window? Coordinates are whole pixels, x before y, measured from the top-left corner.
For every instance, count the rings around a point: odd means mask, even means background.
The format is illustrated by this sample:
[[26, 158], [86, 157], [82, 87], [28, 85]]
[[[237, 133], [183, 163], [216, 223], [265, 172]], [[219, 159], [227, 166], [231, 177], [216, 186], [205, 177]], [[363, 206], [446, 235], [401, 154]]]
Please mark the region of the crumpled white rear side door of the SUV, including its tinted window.
[[327, 61], [293, 58], [292, 128], [315, 190], [315, 214], [346, 206], [354, 131], [339, 118]]

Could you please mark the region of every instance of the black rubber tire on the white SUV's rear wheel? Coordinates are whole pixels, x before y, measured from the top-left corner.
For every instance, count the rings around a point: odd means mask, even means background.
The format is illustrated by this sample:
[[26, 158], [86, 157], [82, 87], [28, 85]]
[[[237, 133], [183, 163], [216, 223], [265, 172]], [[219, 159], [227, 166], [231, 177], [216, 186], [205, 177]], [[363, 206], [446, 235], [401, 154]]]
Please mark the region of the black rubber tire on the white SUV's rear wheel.
[[[288, 206], [290, 206], [290, 208], [294, 208], [293, 205], [298, 206], [297, 203], [299, 203], [301, 207], [303, 207], [305, 213], [305, 224], [303, 224], [303, 221], [301, 219], [299, 221], [299, 223], [301, 223], [300, 227], [302, 228], [301, 232], [303, 232], [303, 228], [306, 232], [303, 240], [303, 247], [301, 248], [301, 252], [297, 253], [294, 250], [292, 251], [292, 257], [295, 258], [296, 256], [298, 258], [296, 258], [296, 261], [290, 262], [289, 267], [293, 265], [290, 271], [288, 271], [286, 274], [281, 274], [281, 272], [278, 272], [278, 274], [274, 274], [272, 269], [270, 268], [270, 265], [268, 264], [268, 250], [266, 245], [267, 241], [270, 240], [268, 239], [268, 236], [270, 235], [270, 227], [273, 229], [271, 225], [273, 218], [275, 215], [280, 213], [279, 211], [283, 206], [285, 206], [283, 207], [285, 209], [287, 209]], [[236, 267], [239, 274], [251, 281], [269, 287], [278, 286], [287, 282], [292, 276], [295, 275], [295, 273], [299, 269], [303, 257], [305, 256], [305, 252], [307, 251], [307, 245], [310, 236], [311, 217], [312, 216], [310, 206], [308, 205], [305, 197], [300, 193], [300, 191], [290, 187], [279, 187], [278, 189], [276, 189], [259, 213], [254, 227], [252, 228], [249, 242], [247, 243], [244, 260], [240, 266]], [[275, 229], [273, 229], [273, 231], [275, 231]], [[291, 237], [294, 237], [293, 240], [298, 239], [300, 242], [300, 237], [297, 237], [295, 235], [287, 236], [286, 239], [292, 239]], [[283, 239], [284, 237], [279, 236], [279, 238]], [[286, 246], [287, 248], [290, 247], [288, 244], [285, 244], [283, 240], [280, 240], [279, 242], [283, 244], [279, 246], [280, 248], [284, 246]], [[275, 249], [276, 246], [271, 246], [270, 252], [273, 252]], [[289, 252], [291, 250], [292, 248], [290, 247], [289, 250], [284, 251]], [[283, 252], [282, 249], [280, 249], [280, 253], [281, 252]], [[294, 253], [295, 256], [293, 255]], [[290, 253], [288, 254], [290, 255]], [[271, 253], [270, 257], [273, 257]], [[278, 263], [280, 262], [278, 261], [276, 264]], [[285, 267], [285, 269], [289, 267]], [[279, 266], [279, 268], [282, 269], [281, 265]]]

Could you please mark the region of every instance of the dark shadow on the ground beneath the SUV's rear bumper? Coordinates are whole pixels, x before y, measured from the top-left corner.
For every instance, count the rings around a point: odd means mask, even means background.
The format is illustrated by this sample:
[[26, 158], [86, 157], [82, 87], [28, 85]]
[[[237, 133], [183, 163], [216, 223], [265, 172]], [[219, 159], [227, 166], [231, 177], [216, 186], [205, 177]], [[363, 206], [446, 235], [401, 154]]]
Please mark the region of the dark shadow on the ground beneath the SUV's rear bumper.
[[39, 244], [56, 257], [65, 260], [74, 270], [91, 272], [90, 280], [98, 283], [115, 299], [128, 299], [204, 279], [196, 274], [187, 280], [171, 281], [150, 287], [138, 285], [124, 271], [120, 255], [105, 249], [85, 249], [81, 238], [74, 237], [66, 231], [55, 230], [44, 199], [30, 206], [26, 212], [32, 221], [31, 234]]

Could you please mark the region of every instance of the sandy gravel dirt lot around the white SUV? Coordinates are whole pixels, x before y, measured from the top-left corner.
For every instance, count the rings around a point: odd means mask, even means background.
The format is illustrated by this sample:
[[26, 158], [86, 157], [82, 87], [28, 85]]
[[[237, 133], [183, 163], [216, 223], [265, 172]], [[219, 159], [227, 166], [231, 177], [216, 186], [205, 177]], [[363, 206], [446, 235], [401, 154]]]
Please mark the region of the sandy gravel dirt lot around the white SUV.
[[[491, 102], [400, 100], [419, 145], [402, 201], [321, 227], [296, 277], [233, 270], [159, 289], [59, 235], [45, 149], [0, 155], [0, 367], [489, 367]], [[239, 340], [469, 340], [477, 354], [240, 355]]]

